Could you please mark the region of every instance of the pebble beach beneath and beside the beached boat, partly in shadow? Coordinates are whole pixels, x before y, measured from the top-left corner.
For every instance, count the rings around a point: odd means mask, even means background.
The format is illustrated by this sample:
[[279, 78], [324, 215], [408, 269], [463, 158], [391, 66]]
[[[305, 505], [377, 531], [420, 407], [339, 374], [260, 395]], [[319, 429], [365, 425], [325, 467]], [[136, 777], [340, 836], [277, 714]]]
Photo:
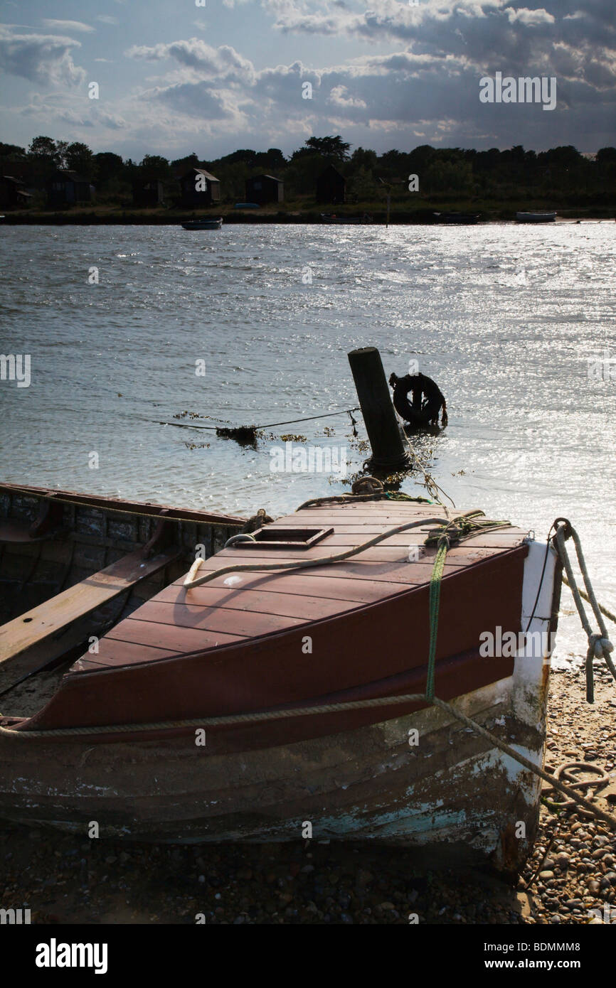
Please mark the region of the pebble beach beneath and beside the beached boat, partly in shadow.
[[[553, 670], [546, 766], [601, 769], [600, 805], [616, 815], [616, 684], [598, 670], [593, 704], [584, 690], [581, 660]], [[308, 841], [119, 845], [3, 823], [0, 906], [67, 925], [616, 923], [616, 833], [557, 807], [553, 793], [516, 887], [473, 870], [428, 870], [419, 858]]]

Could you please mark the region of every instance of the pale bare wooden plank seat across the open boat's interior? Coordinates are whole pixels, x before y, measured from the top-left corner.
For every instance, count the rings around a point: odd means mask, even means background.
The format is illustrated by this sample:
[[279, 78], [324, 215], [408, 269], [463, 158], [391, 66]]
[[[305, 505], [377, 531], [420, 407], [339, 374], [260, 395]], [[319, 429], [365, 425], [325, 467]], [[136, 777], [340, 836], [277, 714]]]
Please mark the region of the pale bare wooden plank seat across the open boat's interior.
[[178, 551], [173, 549], [145, 559], [142, 549], [138, 549], [26, 614], [3, 624], [0, 627], [0, 662], [14, 658], [77, 618], [95, 611], [138, 581], [168, 565], [178, 555]]

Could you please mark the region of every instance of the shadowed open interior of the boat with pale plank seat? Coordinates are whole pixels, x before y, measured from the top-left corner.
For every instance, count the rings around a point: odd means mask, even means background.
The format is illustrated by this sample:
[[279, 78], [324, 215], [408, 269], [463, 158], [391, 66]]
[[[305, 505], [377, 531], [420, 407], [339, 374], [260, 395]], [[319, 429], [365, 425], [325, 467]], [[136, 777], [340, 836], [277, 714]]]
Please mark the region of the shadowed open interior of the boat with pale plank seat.
[[30, 716], [72, 662], [245, 519], [0, 485], [0, 712]]

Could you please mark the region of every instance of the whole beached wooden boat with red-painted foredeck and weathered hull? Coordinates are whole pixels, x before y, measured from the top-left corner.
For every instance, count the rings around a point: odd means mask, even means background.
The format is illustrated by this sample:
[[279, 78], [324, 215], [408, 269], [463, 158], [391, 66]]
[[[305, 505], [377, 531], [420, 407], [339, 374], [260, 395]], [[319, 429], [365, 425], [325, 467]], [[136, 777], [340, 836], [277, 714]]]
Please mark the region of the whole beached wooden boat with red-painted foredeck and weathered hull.
[[[425, 690], [443, 518], [315, 502], [223, 547], [244, 519], [0, 485], [0, 816], [170, 842], [297, 840], [309, 821], [317, 839], [517, 871], [540, 781], [397, 700]], [[342, 562], [265, 568], [411, 524]], [[196, 552], [192, 582], [253, 569], [187, 588]], [[482, 642], [553, 631], [560, 585], [554, 549], [509, 526], [454, 543], [441, 586], [436, 695], [538, 766], [549, 648], [490, 658]]]

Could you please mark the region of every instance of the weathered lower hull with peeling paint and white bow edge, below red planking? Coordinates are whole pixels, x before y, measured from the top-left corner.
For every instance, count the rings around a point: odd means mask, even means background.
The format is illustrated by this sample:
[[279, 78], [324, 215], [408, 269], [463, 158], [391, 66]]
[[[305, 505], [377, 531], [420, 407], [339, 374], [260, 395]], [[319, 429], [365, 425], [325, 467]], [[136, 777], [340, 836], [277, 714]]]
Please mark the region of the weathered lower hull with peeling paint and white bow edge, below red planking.
[[[542, 575], [545, 557], [531, 543], [520, 623], [549, 641], [560, 583], [552, 550]], [[533, 651], [518, 650], [511, 675], [453, 705], [541, 766], [549, 650]], [[540, 780], [441, 708], [293, 743], [251, 744], [254, 731], [207, 730], [205, 744], [195, 730], [115, 743], [3, 734], [0, 816], [171, 843], [296, 841], [309, 823], [314, 839], [414, 847], [507, 875], [532, 849]]]

